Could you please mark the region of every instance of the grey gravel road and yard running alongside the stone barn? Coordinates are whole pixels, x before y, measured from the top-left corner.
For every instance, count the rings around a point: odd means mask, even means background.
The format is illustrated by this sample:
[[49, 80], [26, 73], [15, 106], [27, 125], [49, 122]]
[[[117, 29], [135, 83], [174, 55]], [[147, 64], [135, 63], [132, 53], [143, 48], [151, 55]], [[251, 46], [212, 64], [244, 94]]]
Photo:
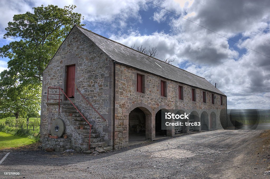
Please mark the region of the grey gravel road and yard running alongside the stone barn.
[[[262, 130], [215, 130], [100, 155], [12, 151], [0, 178], [269, 178]], [[267, 138], [269, 136], [266, 136]], [[19, 172], [5, 176], [3, 172]]]

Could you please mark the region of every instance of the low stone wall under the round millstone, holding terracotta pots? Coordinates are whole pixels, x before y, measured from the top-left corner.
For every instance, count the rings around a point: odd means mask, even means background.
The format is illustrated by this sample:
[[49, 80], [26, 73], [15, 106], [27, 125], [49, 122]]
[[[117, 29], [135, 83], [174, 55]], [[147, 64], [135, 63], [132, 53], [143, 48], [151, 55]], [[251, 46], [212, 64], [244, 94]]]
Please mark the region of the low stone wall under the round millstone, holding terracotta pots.
[[52, 138], [43, 138], [42, 139], [42, 149], [54, 148], [55, 152], [63, 152], [67, 149], [71, 149], [71, 139], [52, 139]]

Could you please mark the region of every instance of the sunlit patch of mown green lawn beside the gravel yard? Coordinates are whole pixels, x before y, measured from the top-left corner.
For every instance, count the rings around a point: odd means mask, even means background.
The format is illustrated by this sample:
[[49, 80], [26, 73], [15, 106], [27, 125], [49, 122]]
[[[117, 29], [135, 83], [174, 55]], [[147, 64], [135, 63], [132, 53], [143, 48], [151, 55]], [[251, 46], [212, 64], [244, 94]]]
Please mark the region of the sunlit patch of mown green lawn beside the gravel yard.
[[34, 142], [34, 139], [0, 132], [0, 149], [29, 145], [33, 144]]

